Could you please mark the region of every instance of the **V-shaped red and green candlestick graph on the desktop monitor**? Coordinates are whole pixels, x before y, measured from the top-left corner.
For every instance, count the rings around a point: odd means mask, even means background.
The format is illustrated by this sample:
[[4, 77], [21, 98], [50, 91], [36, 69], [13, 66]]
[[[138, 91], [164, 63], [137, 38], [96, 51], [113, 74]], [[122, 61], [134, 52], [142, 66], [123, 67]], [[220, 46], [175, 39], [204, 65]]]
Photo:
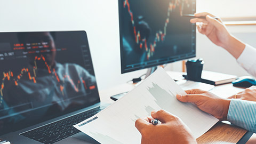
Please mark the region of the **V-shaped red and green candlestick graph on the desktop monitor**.
[[[182, 16], [185, 6], [190, 7], [188, 0], [173, 0], [173, 1], [171, 1], [168, 6], [167, 18], [165, 20], [163, 29], [156, 31], [155, 38], [154, 38], [153, 42], [148, 42], [146, 38], [141, 37], [140, 31], [137, 31], [137, 27], [135, 26], [135, 22], [134, 22], [134, 14], [131, 10], [129, 0], [124, 0], [123, 7], [124, 7], [124, 9], [127, 7], [127, 11], [130, 14], [131, 23], [133, 26], [135, 43], [138, 44], [139, 49], [145, 49], [145, 52], [147, 54], [147, 60], [149, 60], [150, 57], [153, 57], [153, 55], [155, 53], [155, 49], [157, 47], [157, 43], [164, 42], [164, 40], [165, 40], [165, 36], [167, 33], [167, 27], [169, 26], [169, 22], [170, 22], [170, 13], [176, 9], [179, 9], [179, 11], [180, 11], [179, 13]], [[149, 47], [148, 47], [148, 45], [149, 45]]]

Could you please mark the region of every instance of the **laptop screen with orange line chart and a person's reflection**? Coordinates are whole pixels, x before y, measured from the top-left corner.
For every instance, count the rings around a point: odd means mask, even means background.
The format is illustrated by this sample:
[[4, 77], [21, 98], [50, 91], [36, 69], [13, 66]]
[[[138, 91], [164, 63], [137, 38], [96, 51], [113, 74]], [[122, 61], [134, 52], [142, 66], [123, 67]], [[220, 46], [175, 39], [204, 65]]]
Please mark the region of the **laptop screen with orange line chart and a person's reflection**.
[[85, 31], [0, 33], [0, 135], [100, 102]]

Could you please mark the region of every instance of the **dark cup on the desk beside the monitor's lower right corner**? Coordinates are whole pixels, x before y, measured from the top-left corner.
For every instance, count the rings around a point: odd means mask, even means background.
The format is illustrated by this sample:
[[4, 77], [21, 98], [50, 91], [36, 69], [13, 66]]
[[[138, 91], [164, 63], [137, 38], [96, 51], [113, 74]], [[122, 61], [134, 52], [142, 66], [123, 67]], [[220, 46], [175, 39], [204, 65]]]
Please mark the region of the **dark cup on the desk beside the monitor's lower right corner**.
[[203, 66], [203, 59], [188, 60], [186, 62], [187, 75], [183, 75], [183, 77], [190, 81], [201, 82]]

